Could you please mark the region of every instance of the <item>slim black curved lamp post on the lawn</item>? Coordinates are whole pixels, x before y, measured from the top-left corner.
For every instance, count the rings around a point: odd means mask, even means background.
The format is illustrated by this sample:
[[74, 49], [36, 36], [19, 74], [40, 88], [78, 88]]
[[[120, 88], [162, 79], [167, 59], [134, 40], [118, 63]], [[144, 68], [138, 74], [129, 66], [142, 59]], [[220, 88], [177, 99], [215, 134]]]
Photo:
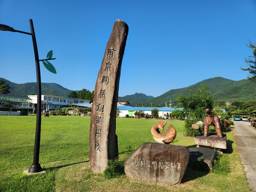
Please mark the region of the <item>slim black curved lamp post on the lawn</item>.
[[40, 163], [39, 163], [40, 136], [41, 136], [41, 103], [42, 103], [41, 102], [41, 73], [40, 73], [39, 61], [47, 61], [47, 60], [52, 60], [52, 59], [55, 59], [55, 58], [39, 60], [38, 48], [37, 48], [37, 44], [36, 44], [35, 31], [34, 31], [34, 26], [33, 26], [33, 20], [32, 19], [29, 19], [29, 24], [30, 24], [31, 33], [18, 31], [16, 29], [13, 29], [10, 26], [3, 25], [3, 24], [0, 24], [0, 30], [2, 30], [2, 31], [11, 31], [11, 32], [19, 32], [19, 33], [24, 33], [24, 34], [32, 36], [33, 47], [34, 47], [34, 52], [35, 52], [35, 67], [36, 67], [37, 95], [38, 96], [37, 96], [37, 114], [36, 114], [34, 160], [33, 160], [33, 164], [29, 168], [29, 173], [38, 173], [38, 172], [42, 171], [42, 168], [41, 168]]

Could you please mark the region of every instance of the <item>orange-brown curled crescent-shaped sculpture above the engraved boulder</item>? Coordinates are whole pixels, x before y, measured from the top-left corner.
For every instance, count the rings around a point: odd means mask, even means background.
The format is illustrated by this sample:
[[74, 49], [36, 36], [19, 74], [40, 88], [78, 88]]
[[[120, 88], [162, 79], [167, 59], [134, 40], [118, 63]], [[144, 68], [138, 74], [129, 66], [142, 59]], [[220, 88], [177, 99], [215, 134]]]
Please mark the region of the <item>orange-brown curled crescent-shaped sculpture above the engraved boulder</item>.
[[163, 131], [164, 125], [166, 125], [166, 123], [166, 121], [158, 122], [151, 128], [151, 134], [157, 143], [169, 144], [172, 143], [176, 137], [176, 130], [172, 125], [167, 128], [164, 134], [160, 133], [158, 129]]

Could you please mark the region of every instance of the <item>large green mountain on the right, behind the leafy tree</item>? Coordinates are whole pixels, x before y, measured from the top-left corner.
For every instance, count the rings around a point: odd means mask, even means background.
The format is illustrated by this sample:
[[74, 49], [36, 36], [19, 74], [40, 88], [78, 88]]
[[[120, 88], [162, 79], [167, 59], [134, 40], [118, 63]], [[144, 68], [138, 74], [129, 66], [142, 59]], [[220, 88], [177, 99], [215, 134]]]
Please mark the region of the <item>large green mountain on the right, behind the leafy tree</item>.
[[[215, 96], [217, 102], [225, 102], [225, 101], [250, 101], [256, 99], [256, 83], [249, 81], [247, 79], [243, 79], [240, 81], [233, 81], [230, 79], [225, 79], [222, 77], [215, 77], [210, 79], [205, 79], [196, 84], [193, 84], [189, 87], [184, 87], [181, 89], [173, 89], [168, 92], [151, 99], [150, 101], [144, 102], [143, 106], [151, 106], [151, 103], [155, 107], [163, 107], [167, 102], [167, 106], [169, 107], [169, 103], [171, 100], [172, 107], [174, 107], [176, 102], [176, 97], [180, 94], [189, 95], [189, 91], [195, 91], [197, 87], [201, 84], [207, 84], [211, 95]], [[141, 105], [137, 103], [137, 105]]]

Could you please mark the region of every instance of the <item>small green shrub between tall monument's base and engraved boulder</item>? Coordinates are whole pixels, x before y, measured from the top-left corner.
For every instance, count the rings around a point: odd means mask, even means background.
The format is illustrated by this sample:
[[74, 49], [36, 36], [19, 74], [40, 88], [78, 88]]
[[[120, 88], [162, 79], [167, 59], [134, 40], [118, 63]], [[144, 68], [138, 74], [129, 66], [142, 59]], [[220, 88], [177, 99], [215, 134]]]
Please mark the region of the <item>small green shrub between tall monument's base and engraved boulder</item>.
[[104, 170], [103, 175], [107, 179], [118, 178], [125, 174], [125, 161], [109, 160], [108, 167]]

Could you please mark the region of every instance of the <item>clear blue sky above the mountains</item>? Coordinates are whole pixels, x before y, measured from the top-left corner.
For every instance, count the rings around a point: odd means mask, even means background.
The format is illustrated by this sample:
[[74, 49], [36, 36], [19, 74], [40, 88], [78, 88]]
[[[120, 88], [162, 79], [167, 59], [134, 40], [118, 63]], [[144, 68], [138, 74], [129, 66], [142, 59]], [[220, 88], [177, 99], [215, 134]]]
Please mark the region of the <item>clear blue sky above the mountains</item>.
[[[151, 96], [221, 76], [247, 78], [244, 58], [256, 41], [256, 0], [0, 0], [0, 23], [30, 32], [39, 58], [53, 50], [57, 74], [41, 63], [41, 81], [94, 90], [115, 20], [129, 33], [119, 96]], [[0, 31], [0, 77], [35, 82], [30, 35]], [[30, 93], [28, 93], [30, 94]]]

